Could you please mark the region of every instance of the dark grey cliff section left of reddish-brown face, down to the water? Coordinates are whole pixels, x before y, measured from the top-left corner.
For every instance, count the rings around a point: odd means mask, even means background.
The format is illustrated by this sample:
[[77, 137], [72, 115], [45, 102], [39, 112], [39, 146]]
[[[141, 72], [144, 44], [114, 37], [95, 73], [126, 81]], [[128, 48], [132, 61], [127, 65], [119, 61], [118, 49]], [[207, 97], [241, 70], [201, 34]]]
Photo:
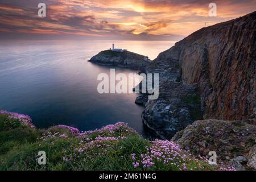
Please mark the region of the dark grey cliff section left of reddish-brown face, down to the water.
[[179, 55], [180, 48], [172, 47], [146, 68], [146, 73], [159, 73], [159, 98], [146, 103], [142, 121], [163, 139], [202, 118], [198, 86], [181, 81]]

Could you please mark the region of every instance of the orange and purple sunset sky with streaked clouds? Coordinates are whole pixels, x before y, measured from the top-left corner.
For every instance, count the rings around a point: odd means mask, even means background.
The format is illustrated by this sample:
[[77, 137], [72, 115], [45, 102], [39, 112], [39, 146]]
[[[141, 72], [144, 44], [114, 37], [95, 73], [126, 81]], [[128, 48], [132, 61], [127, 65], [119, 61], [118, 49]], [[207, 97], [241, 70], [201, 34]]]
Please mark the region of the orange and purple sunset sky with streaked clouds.
[[180, 40], [255, 10], [256, 0], [0, 0], [0, 39]]

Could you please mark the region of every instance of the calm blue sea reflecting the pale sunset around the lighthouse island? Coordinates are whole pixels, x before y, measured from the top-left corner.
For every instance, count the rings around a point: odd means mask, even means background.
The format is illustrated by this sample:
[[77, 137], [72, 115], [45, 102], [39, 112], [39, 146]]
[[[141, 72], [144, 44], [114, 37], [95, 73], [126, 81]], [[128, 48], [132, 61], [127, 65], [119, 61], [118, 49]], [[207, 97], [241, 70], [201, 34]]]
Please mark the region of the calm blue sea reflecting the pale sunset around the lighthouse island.
[[[89, 63], [109, 41], [18, 41], [0, 43], [0, 109], [30, 115], [34, 124], [93, 130], [123, 121], [146, 135], [137, 94], [99, 94], [97, 76], [110, 67]], [[118, 41], [154, 59], [174, 42]], [[134, 73], [115, 68], [117, 73]]]

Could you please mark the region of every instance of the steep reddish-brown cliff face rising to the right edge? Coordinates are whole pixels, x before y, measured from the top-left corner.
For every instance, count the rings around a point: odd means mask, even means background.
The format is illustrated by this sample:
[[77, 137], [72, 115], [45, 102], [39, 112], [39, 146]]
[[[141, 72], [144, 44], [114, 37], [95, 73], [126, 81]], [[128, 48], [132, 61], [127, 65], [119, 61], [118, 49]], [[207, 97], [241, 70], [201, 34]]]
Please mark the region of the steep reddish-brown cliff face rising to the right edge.
[[255, 44], [256, 11], [196, 31], [160, 53], [151, 68], [178, 61], [183, 83], [199, 84], [204, 118], [253, 122]]

